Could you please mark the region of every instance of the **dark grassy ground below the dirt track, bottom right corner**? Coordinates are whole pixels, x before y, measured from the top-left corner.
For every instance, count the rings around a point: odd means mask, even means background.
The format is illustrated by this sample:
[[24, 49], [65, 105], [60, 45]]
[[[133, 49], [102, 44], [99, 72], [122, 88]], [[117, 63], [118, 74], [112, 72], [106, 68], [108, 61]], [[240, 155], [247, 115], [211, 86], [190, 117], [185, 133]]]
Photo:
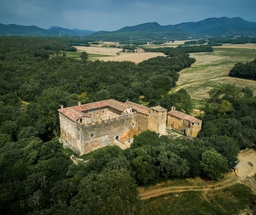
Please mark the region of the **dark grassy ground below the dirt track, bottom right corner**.
[[242, 184], [223, 190], [208, 192], [172, 193], [165, 196], [151, 198], [144, 201], [142, 214], [144, 215], [172, 215], [172, 214], [239, 214], [241, 210], [249, 208], [255, 196], [250, 188]]

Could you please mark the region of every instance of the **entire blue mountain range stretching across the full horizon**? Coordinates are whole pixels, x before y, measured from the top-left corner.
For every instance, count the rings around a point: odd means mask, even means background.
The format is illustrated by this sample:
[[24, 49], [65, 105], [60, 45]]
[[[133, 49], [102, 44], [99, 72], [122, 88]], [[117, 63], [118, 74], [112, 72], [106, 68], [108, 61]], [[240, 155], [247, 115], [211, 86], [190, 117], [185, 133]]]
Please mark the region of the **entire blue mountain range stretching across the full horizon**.
[[256, 36], [256, 22], [248, 22], [240, 17], [236, 18], [208, 18], [199, 22], [184, 22], [176, 25], [162, 26], [156, 22], [144, 23], [136, 26], [124, 27], [117, 31], [99, 31], [66, 29], [51, 27], [42, 29], [36, 26], [4, 25], [0, 24], [0, 35], [5, 36], [86, 36], [90, 40], [120, 41], [131, 37], [137, 40], [161, 40], [195, 38], [206, 36]]

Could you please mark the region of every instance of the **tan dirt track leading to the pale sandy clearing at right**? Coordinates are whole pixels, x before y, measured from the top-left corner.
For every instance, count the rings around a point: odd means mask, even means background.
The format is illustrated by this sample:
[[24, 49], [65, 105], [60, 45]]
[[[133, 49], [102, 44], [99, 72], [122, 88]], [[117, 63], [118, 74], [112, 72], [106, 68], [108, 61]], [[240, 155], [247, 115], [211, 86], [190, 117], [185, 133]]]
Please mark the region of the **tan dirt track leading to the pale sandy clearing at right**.
[[201, 180], [200, 178], [187, 179], [188, 183], [195, 184], [191, 186], [176, 186], [172, 185], [172, 181], [168, 181], [148, 188], [140, 187], [139, 196], [142, 200], [146, 200], [168, 193], [181, 193], [188, 191], [208, 192], [212, 190], [224, 189], [236, 183], [243, 183], [249, 186], [252, 191], [256, 193], [255, 179], [252, 178], [252, 176], [256, 174], [256, 151], [252, 149], [242, 151], [239, 154], [238, 159], [240, 163], [238, 165], [237, 173], [232, 171], [226, 174], [223, 180], [217, 182], [207, 182]]

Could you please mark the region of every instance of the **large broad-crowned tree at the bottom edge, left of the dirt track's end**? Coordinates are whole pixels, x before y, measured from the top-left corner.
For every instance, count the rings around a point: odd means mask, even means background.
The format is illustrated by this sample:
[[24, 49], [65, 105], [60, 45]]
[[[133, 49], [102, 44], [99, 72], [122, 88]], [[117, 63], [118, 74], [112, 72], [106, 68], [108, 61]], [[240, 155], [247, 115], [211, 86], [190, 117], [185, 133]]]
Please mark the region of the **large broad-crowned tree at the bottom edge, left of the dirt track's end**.
[[68, 214], [139, 214], [137, 186], [125, 169], [105, 169], [82, 179]]

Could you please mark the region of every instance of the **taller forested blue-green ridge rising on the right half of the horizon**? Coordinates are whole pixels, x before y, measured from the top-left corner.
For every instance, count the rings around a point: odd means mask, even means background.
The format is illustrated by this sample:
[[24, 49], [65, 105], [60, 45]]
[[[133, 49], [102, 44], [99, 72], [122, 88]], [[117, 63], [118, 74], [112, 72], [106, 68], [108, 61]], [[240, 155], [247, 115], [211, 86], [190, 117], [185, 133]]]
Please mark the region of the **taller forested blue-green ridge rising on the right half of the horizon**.
[[[185, 22], [162, 26], [156, 22], [127, 26], [114, 32], [97, 32], [88, 38], [103, 41], [129, 41], [132, 35], [134, 43], [164, 42], [177, 39], [216, 36], [256, 35], [256, 22], [242, 18], [209, 18], [199, 22]], [[125, 40], [126, 38], [126, 40]]]

